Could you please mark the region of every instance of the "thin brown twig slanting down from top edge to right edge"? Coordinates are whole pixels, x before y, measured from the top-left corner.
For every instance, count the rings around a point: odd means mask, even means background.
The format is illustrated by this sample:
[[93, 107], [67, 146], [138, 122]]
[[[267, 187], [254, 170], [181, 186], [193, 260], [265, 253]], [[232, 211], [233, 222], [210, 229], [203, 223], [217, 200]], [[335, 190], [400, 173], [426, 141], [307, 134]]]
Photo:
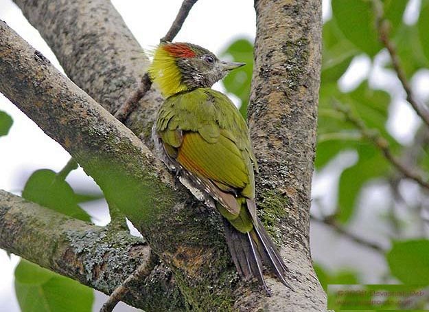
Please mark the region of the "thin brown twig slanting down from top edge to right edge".
[[413, 95], [413, 91], [411, 91], [410, 83], [408, 82], [408, 79], [406, 78], [406, 74], [404, 69], [401, 65], [401, 60], [399, 59], [399, 56], [397, 55], [395, 45], [389, 38], [389, 28], [390, 23], [388, 20], [384, 18], [384, 4], [380, 0], [372, 0], [373, 1], [373, 10], [375, 13], [375, 23], [377, 25], [377, 30], [379, 34], [379, 38], [381, 43], [386, 47], [387, 51], [389, 52], [389, 55], [392, 59], [392, 65], [393, 68], [396, 71], [397, 78], [402, 84], [402, 87], [404, 88], [406, 92], [406, 100], [408, 103], [411, 104], [417, 115], [421, 118], [421, 120], [424, 121], [424, 123], [429, 126], [429, 111], [426, 107], [422, 106], [417, 102]]

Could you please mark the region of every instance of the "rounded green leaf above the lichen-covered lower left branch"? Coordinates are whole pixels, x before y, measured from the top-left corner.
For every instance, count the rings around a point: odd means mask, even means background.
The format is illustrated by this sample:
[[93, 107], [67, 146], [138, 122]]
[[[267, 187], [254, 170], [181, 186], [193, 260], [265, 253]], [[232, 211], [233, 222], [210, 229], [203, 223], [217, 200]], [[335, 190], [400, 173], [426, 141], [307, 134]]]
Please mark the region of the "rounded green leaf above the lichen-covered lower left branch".
[[22, 196], [28, 201], [34, 201], [67, 216], [83, 221], [91, 220], [89, 214], [78, 205], [78, 197], [69, 183], [52, 170], [41, 169], [33, 172], [25, 183]]

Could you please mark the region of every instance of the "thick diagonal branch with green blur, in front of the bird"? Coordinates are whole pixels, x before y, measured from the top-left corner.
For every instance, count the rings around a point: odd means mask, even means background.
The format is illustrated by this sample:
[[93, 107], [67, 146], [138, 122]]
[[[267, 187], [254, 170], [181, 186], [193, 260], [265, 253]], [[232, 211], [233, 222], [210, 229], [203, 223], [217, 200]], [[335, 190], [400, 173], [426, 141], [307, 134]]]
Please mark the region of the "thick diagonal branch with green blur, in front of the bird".
[[[0, 91], [59, 142], [145, 235], [195, 309], [264, 304], [241, 281], [222, 236], [220, 215], [205, 210], [140, 140], [42, 55], [0, 22]], [[251, 295], [244, 296], [244, 293]]]

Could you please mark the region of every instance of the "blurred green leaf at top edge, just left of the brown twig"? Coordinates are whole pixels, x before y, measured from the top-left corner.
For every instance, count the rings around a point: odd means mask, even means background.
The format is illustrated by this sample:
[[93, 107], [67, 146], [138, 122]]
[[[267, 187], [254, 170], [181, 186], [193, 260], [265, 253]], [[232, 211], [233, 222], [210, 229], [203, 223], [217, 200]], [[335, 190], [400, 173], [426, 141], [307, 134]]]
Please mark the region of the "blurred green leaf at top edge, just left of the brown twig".
[[382, 46], [375, 30], [373, 9], [370, 1], [332, 0], [333, 19], [345, 38], [362, 52], [375, 56]]

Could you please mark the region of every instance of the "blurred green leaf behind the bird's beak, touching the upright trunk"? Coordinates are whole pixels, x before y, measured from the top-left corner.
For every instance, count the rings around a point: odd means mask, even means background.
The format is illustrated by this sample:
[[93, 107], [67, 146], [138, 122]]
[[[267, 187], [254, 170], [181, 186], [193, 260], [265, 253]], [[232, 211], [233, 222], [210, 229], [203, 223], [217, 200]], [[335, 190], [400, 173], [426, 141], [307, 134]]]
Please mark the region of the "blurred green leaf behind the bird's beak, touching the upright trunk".
[[222, 80], [225, 89], [240, 98], [242, 102], [240, 113], [246, 118], [253, 73], [253, 44], [246, 39], [239, 39], [222, 52], [222, 56], [227, 55], [235, 62], [246, 63], [246, 66], [234, 69]]

